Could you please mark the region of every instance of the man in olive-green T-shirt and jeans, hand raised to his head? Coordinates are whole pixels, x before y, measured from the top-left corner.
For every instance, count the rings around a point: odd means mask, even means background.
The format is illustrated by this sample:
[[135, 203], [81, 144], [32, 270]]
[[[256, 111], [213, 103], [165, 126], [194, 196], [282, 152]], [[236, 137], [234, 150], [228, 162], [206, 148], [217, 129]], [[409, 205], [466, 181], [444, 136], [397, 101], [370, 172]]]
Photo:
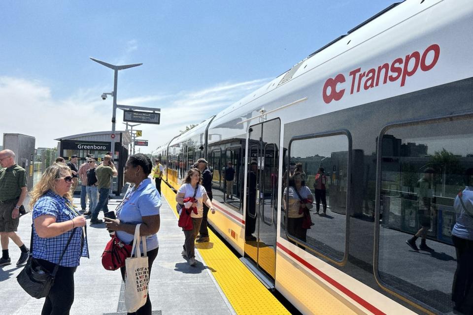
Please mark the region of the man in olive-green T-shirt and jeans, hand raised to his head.
[[108, 193], [110, 192], [111, 178], [118, 175], [115, 165], [111, 161], [111, 157], [106, 155], [103, 158], [103, 163], [97, 167], [95, 170], [95, 175], [97, 176], [97, 188], [99, 189], [99, 203], [92, 212], [92, 218], [90, 219], [90, 224], [102, 223], [102, 220], [99, 220], [100, 210], [103, 213], [108, 212]]

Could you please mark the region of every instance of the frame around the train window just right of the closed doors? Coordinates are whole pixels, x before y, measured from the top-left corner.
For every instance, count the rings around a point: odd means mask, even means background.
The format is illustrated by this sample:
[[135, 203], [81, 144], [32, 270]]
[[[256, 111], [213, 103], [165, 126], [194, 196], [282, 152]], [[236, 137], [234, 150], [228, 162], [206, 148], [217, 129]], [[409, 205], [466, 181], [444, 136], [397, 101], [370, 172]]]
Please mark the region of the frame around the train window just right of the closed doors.
[[[330, 136], [337, 136], [337, 135], [345, 135], [347, 137], [348, 141], [348, 157], [347, 157], [347, 173], [348, 173], [348, 178], [347, 178], [347, 189], [346, 189], [346, 204], [347, 204], [347, 211], [345, 215], [345, 250], [343, 252], [343, 257], [341, 259], [337, 259], [336, 257], [333, 257], [332, 255], [321, 252], [314, 247], [312, 247], [310, 244], [306, 242], [302, 242], [301, 240], [292, 237], [287, 233], [287, 229], [284, 230], [284, 233], [286, 234], [286, 237], [288, 240], [291, 240], [292, 242], [296, 243], [299, 246], [303, 246], [306, 249], [308, 249], [311, 253], [314, 253], [317, 256], [320, 256], [338, 266], [344, 266], [347, 261], [348, 261], [348, 253], [349, 253], [349, 235], [350, 235], [350, 216], [351, 214], [349, 213], [349, 205], [351, 204], [351, 169], [352, 169], [352, 136], [350, 131], [347, 129], [338, 129], [338, 130], [332, 130], [332, 131], [326, 131], [326, 132], [317, 132], [317, 133], [311, 133], [311, 134], [305, 134], [305, 135], [298, 135], [298, 136], [293, 136], [289, 140], [288, 143], [288, 148], [287, 148], [287, 159], [286, 159], [286, 169], [289, 169], [289, 163], [291, 160], [291, 145], [294, 141], [301, 141], [301, 140], [308, 140], [308, 139], [316, 139], [316, 138], [325, 138], [325, 137], [330, 137]], [[289, 183], [289, 172], [287, 172], [286, 175], [286, 183]], [[286, 195], [286, 202], [289, 202], [289, 195]], [[284, 199], [284, 195], [281, 195], [281, 201]], [[285, 222], [287, 226], [287, 219], [288, 216], [285, 216]]]

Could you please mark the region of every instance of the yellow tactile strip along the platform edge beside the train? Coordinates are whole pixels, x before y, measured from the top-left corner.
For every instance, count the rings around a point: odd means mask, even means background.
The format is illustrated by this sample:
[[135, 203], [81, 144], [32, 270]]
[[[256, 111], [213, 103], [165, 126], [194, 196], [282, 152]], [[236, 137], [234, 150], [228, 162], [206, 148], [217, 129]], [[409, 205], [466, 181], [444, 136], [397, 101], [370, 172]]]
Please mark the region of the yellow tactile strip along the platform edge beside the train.
[[[175, 209], [174, 191], [164, 183], [161, 191]], [[196, 248], [236, 314], [290, 314], [211, 230], [209, 237], [210, 242], [196, 243]]]

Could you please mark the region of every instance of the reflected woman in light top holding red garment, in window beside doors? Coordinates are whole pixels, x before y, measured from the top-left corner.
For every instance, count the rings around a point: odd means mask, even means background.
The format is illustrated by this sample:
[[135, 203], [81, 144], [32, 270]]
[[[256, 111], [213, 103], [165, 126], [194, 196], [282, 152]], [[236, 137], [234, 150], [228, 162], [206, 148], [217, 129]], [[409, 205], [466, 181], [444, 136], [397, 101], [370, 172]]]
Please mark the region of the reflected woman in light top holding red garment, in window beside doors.
[[307, 228], [303, 227], [304, 208], [312, 209], [314, 197], [310, 189], [305, 186], [303, 173], [295, 172], [289, 187], [284, 189], [284, 209], [287, 216], [287, 233], [301, 241], [307, 242]]

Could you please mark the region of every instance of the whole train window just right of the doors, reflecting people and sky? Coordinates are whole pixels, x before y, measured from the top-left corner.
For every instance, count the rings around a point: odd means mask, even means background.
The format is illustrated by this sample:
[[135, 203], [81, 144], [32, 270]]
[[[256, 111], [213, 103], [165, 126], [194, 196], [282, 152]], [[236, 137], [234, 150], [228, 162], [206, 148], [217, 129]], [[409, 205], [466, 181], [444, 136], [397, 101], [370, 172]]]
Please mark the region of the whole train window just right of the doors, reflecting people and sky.
[[293, 138], [283, 174], [287, 238], [337, 263], [347, 253], [350, 148], [346, 131]]

